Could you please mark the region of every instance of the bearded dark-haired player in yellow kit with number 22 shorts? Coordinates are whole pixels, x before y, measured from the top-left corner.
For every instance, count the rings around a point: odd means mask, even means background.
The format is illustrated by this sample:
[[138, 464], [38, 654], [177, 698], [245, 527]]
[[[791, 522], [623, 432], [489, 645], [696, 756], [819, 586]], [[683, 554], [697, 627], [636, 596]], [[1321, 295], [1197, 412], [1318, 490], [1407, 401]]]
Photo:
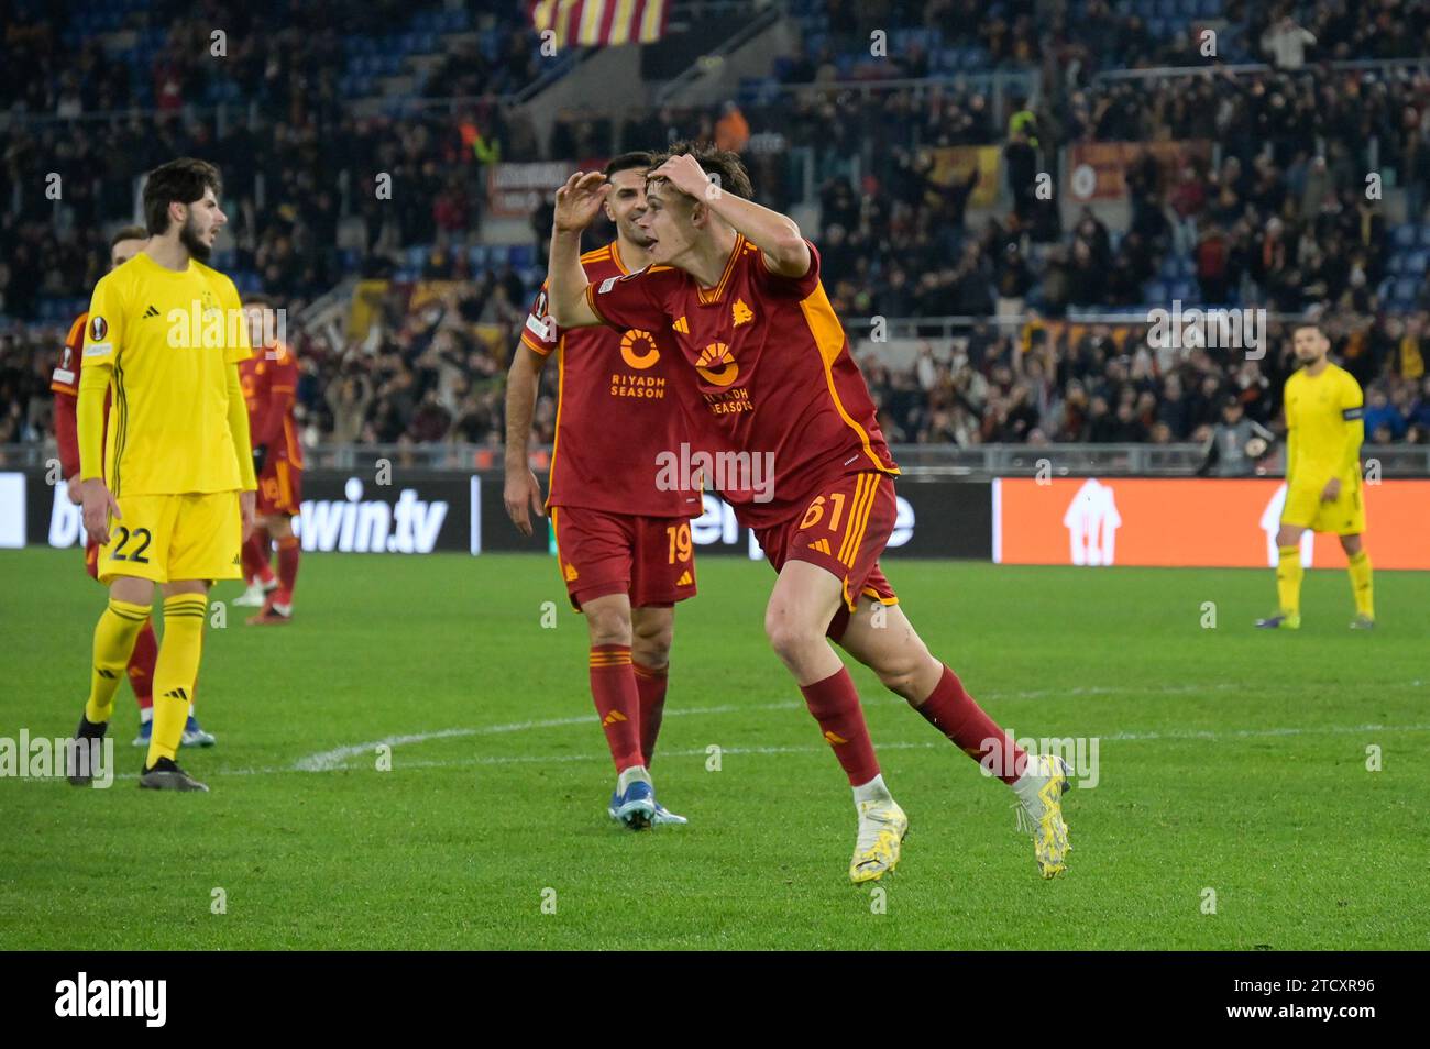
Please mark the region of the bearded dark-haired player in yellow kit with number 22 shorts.
[[[70, 749], [72, 783], [94, 772], [154, 585], [164, 632], [154, 663], [154, 722], [139, 786], [207, 790], [174, 762], [209, 615], [209, 587], [239, 577], [253, 527], [253, 453], [237, 362], [250, 356], [233, 282], [203, 264], [227, 219], [219, 170], [180, 159], [144, 184], [143, 252], [100, 279], [80, 372], [84, 529], [99, 542], [109, 606], [94, 627], [90, 696]], [[104, 393], [113, 394], [107, 443]]]

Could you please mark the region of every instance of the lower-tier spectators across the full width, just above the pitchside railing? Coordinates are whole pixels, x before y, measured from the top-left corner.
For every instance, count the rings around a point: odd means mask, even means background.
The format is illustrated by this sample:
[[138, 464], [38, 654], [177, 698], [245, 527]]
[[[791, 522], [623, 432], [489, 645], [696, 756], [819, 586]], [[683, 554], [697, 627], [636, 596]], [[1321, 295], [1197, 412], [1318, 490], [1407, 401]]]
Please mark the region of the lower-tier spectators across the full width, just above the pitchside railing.
[[[316, 443], [499, 443], [502, 340], [472, 334], [470, 317], [506, 314], [519, 326], [512, 289], [495, 279], [409, 310], [395, 299], [369, 337], [300, 332], [297, 419]], [[1430, 442], [1430, 326], [1409, 319], [1337, 319], [1333, 344], [1367, 389], [1371, 443]], [[950, 340], [922, 340], [917, 360], [891, 369], [865, 343], [855, 356], [892, 443], [1205, 440], [1227, 400], [1274, 426], [1281, 383], [1293, 370], [1290, 332], [1274, 326], [1263, 362], [1198, 350], [1173, 362], [1144, 340], [1088, 324], [1065, 346], [1002, 334], [980, 323]], [[53, 343], [33, 333], [0, 336], [0, 444], [43, 439], [49, 430]], [[548, 389], [535, 436], [549, 443], [555, 402]]]

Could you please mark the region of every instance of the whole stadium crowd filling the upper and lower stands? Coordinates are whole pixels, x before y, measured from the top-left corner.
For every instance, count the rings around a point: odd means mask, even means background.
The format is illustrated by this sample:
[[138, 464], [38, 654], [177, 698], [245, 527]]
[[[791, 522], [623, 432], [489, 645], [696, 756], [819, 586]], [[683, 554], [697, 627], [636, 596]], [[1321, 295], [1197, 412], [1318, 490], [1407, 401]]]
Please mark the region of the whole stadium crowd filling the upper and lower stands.
[[[173, 99], [182, 103], [204, 90], [206, 73], [203, 63], [180, 60], [202, 43], [200, 20], [177, 9], [169, 19], [160, 3], [154, 24], [172, 30], [153, 66], [157, 113], [0, 127], [0, 163], [19, 190], [0, 212], [0, 313], [30, 319], [44, 299], [83, 299], [103, 270], [106, 223], [132, 210], [134, 179], [173, 156], [204, 156], [223, 169], [226, 199], [236, 204], [232, 269], [252, 274], [245, 290], [262, 289], [296, 313], [345, 274], [390, 276], [415, 244], [430, 246], [420, 276], [455, 282], [419, 309], [389, 296], [360, 343], [336, 329], [295, 334], [307, 440], [499, 440], [503, 362], [535, 289], [531, 273], [473, 266], [465, 250], [482, 243], [486, 166], [696, 137], [739, 149], [762, 197], [781, 210], [799, 196], [797, 157], [809, 157], [819, 203], [811, 234], [831, 299], [851, 320], [1145, 309], [1154, 282], [1167, 282], [1164, 290], [1194, 287], [1188, 299], [1203, 303], [1330, 309], [1337, 350], [1374, 402], [1367, 437], [1427, 440], [1430, 277], [1423, 266], [1411, 273], [1409, 296], [1404, 280], [1387, 282], [1393, 230], [1364, 189], [1374, 161], [1387, 186], [1406, 187], [1410, 222], [1426, 216], [1430, 76], [1424, 66], [1303, 67], [1427, 53], [1416, 43], [1430, 31], [1427, 4], [1226, 3], [1223, 16], [1243, 46], [1267, 43], [1283, 17], [1340, 43], [1311, 46], [1301, 61], [1277, 51], [1270, 73], [1135, 81], [1094, 74], [1173, 61], [1167, 49], [1184, 47], [1187, 34], [1147, 44], [1137, 14], [1101, 0], [1071, 6], [1051, 31], [1034, 31], [1024, 10], [1031, 4], [1005, 3], [987, 20], [970, 17], [968, 6], [835, 3], [829, 21], [942, 26], [945, 43], [977, 44], [991, 64], [1041, 69], [1031, 104], [1018, 97], [1000, 104], [988, 90], [947, 81], [819, 89], [838, 73], [841, 49], [862, 40], [868, 51], [867, 33], [834, 33], [815, 57], [799, 51], [776, 63], [775, 79], [739, 104], [598, 119], [562, 113], [542, 143], [500, 99], [539, 73], [529, 33], [515, 24], [505, 60], [473, 57], [463, 44], [422, 87], [430, 97], [480, 99], [395, 119], [358, 116], [343, 104], [335, 23], [315, 14], [310, 31], [280, 34], [270, 53], [239, 47], [225, 76], [250, 104], [220, 116], [164, 103], [166, 84], [177, 84]], [[375, 13], [362, 17], [380, 24], [396, 6], [369, 7]], [[844, 7], [849, 20], [835, 17]], [[97, 46], [69, 56], [53, 27], [37, 17], [21, 60], [0, 73], [11, 109], [23, 103], [33, 114], [61, 117], [133, 101], [122, 64]], [[891, 53], [879, 73], [928, 71], [919, 51]], [[1028, 189], [1062, 146], [1195, 139], [1217, 141], [1220, 163], [1188, 150], [1173, 164], [1147, 153], [1130, 167], [1125, 229], [1108, 229], [1091, 209], [1062, 229], [1058, 202]], [[990, 143], [1002, 150], [1012, 204], [972, 223], [977, 173], [940, 169], [928, 147]], [[63, 207], [43, 193], [50, 171], [66, 187]], [[390, 200], [375, 193], [375, 171], [392, 176]], [[340, 237], [345, 220], [350, 229], [355, 219], [356, 242]], [[538, 212], [533, 220], [538, 252], [543, 219]], [[1177, 276], [1188, 280], [1177, 284]], [[1387, 284], [1400, 286], [1393, 299], [1383, 294]], [[1024, 349], [1018, 332], [991, 322], [924, 347], [908, 370], [889, 372], [869, 347], [858, 352], [894, 442], [1188, 440], [1216, 420], [1227, 396], [1243, 400], [1248, 417], [1274, 420], [1286, 370], [1280, 350], [1264, 369], [1213, 357], [1168, 366], [1105, 333], [1084, 343]], [[0, 336], [0, 443], [46, 432], [53, 346], [53, 329], [16, 326]], [[538, 437], [553, 422], [551, 407], [543, 399]]]

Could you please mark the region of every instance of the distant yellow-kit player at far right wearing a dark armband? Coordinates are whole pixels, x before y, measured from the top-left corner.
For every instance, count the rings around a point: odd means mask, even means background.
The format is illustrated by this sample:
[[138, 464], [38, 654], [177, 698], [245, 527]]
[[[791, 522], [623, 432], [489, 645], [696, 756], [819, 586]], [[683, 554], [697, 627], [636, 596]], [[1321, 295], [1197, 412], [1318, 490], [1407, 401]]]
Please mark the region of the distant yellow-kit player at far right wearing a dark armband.
[[1318, 324], [1300, 324], [1294, 333], [1300, 372], [1286, 380], [1286, 507], [1281, 530], [1276, 589], [1280, 615], [1258, 619], [1266, 629], [1296, 630], [1301, 626], [1300, 543], [1307, 529], [1334, 532], [1348, 560], [1356, 619], [1351, 629], [1376, 625], [1370, 555], [1361, 546], [1366, 530], [1366, 502], [1360, 482], [1360, 446], [1366, 439], [1366, 397], [1360, 383], [1343, 367], [1327, 360], [1330, 340]]

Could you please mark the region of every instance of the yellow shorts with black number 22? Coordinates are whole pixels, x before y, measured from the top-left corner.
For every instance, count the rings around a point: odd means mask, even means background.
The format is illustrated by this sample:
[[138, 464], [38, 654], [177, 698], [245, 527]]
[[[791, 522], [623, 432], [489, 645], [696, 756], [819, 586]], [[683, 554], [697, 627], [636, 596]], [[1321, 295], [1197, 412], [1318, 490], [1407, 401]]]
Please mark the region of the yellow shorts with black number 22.
[[239, 579], [243, 520], [237, 492], [120, 496], [120, 517], [99, 549], [99, 582], [137, 576], [156, 583]]

